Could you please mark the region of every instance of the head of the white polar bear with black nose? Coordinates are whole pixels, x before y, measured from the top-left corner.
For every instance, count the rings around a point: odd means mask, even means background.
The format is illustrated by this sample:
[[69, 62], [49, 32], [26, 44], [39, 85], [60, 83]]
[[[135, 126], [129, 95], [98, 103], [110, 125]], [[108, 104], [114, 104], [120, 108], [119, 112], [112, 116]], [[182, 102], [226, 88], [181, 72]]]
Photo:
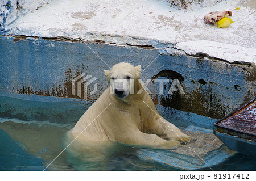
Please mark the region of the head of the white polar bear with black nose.
[[118, 98], [125, 99], [134, 94], [135, 80], [141, 76], [141, 65], [133, 66], [129, 63], [119, 63], [111, 70], [104, 70], [110, 84], [110, 91]]

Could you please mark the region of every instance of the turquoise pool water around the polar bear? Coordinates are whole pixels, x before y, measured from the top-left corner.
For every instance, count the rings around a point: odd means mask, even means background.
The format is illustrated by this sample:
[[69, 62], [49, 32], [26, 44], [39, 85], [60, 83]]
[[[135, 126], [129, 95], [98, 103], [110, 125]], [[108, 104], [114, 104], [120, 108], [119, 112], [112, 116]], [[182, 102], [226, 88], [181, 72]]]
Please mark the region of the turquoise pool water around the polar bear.
[[[64, 134], [90, 103], [46, 96], [13, 96], [0, 96], [0, 143], [3, 145], [0, 170], [44, 170], [64, 149]], [[196, 157], [168, 150], [115, 143], [110, 152], [107, 159], [96, 161], [97, 156], [85, 160], [83, 156], [74, 157], [64, 151], [46, 170], [210, 170], [197, 163]], [[213, 162], [216, 157], [220, 160]], [[213, 170], [256, 170], [256, 157], [230, 154], [224, 145], [202, 158]]]

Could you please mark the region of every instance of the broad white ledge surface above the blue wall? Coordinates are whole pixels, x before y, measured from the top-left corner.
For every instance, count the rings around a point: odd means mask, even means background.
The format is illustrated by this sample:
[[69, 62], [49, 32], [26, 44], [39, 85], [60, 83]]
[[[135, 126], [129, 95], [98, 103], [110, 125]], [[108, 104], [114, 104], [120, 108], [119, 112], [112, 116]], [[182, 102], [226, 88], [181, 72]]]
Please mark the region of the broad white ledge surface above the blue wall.
[[[188, 51], [184, 42], [192, 41], [193, 51], [200, 49], [200, 52], [212, 54], [209, 47], [199, 44], [195, 48], [195, 42], [204, 40], [222, 43], [226, 53], [232, 54], [230, 47], [233, 45], [239, 46], [236, 50], [256, 52], [256, 5], [253, 1], [227, 0], [204, 8], [179, 9], [160, 0], [55, 0], [21, 16], [5, 29], [11, 35], [81, 38], [118, 45], [152, 45], [155, 48], [174, 47], [179, 43], [179, 49], [184, 51]], [[236, 7], [241, 8], [234, 10]], [[225, 29], [205, 24], [203, 16], [216, 10], [232, 10], [236, 22]], [[223, 58], [220, 53], [213, 53], [213, 56]], [[253, 53], [241, 56], [228, 61], [255, 60]]]

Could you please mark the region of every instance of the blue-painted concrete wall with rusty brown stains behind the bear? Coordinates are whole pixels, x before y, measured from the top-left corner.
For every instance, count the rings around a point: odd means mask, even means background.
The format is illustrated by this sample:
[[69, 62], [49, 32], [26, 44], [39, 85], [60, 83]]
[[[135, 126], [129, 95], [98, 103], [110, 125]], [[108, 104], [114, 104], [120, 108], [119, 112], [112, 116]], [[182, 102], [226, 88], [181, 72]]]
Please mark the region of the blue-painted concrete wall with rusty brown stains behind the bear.
[[[253, 64], [229, 64], [168, 49], [148, 66], [163, 49], [88, 45], [110, 67], [123, 61], [141, 64], [142, 70], [146, 69], [142, 71], [143, 81], [161, 77], [180, 79], [185, 94], [167, 94], [172, 81], [164, 85], [164, 94], [158, 94], [159, 83], [148, 84], [155, 104], [167, 115], [171, 109], [173, 113], [182, 111], [183, 116], [195, 113], [219, 119], [256, 94]], [[72, 94], [72, 79], [85, 73], [97, 78], [98, 91], [88, 95], [90, 100], [96, 100], [108, 87], [103, 71], [109, 68], [90, 48], [73, 40], [0, 36], [0, 92], [79, 98]], [[89, 91], [93, 89], [92, 84]]]

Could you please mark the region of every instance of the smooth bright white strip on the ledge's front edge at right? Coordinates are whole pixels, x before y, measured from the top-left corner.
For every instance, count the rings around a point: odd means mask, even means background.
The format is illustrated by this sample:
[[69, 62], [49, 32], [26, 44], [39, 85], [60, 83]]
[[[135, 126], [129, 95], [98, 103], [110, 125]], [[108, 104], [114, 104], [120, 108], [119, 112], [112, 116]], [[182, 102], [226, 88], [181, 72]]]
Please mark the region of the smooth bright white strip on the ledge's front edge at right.
[[230, 63], [247, 62], [256, 64], [256, 49], [254, 48], [207, 40], [180, 42], [176, 44], [176, 48], [184, 50], [189, 55], [204, 53]]

